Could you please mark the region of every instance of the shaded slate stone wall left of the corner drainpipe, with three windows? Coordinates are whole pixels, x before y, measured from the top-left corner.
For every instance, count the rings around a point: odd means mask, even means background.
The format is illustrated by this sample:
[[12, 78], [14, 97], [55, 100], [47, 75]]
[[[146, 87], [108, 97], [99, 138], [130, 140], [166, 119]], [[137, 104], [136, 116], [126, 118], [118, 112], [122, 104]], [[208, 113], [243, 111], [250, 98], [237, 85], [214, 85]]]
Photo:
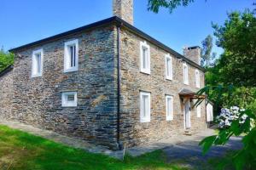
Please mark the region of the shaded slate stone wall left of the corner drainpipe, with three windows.
[[[63, 72], [64, 42], [79, 39], [79, 71]], [[28, 48], [15, 60], [9, 119], [116, 148], [114, 26]], [[43, 77], [32, 78], [32, 51], [44, 49]], [[61, 107], [61, 92], [76, 91], [78, 106]]]

